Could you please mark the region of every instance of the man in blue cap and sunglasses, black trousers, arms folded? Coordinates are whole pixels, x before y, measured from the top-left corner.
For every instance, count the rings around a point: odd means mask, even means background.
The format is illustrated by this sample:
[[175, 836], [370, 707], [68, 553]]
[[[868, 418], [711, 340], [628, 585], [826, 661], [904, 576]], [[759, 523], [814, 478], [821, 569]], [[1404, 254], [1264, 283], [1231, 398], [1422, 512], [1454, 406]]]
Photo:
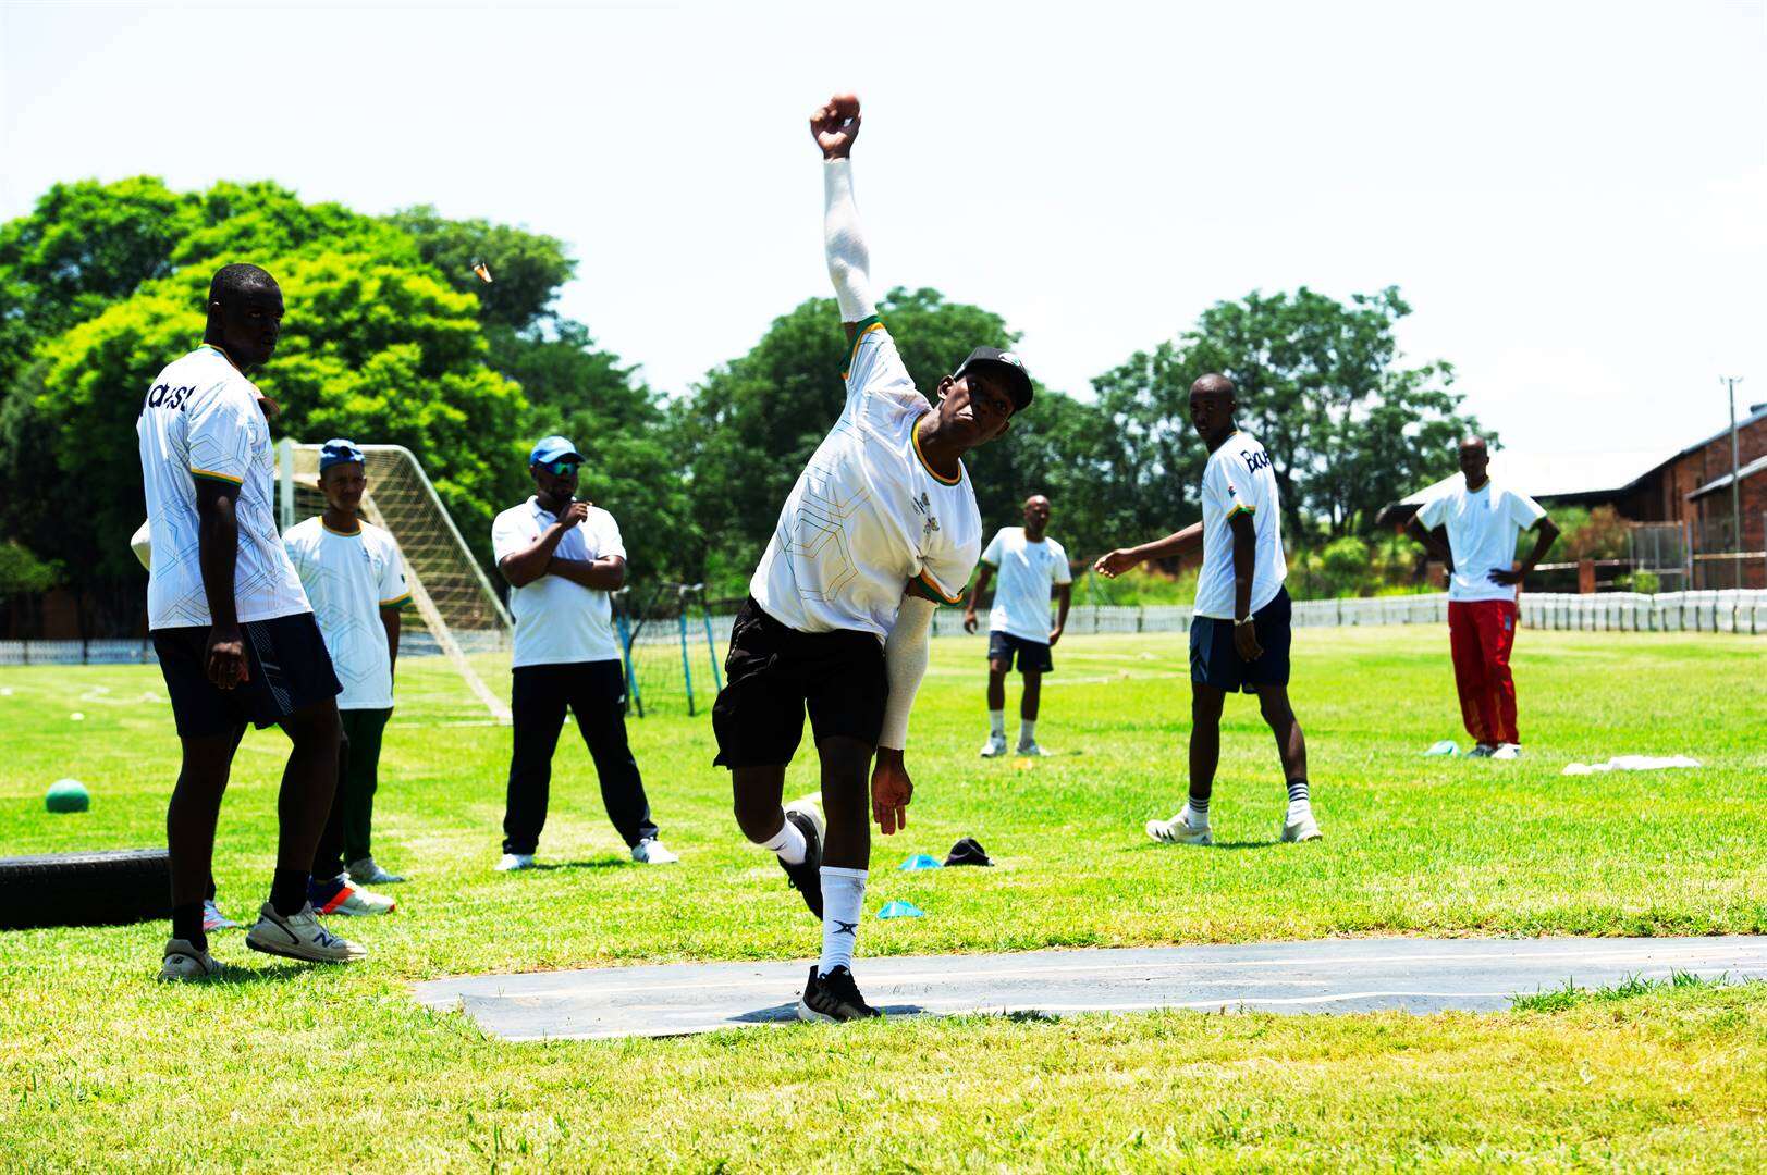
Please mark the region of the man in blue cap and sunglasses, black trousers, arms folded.
[[534, 868], [567, 707], [595, 760], [608, 818], [633, 860], [680, 860], [657, 839], [626, 742], [626, 673], [610, 595], [626, 583], [626, 544], [613, 514], [576, 498], [581, 466], [583, 454], [569, 440], [542, 438], [528, 454], [534, 497], [491, 523], [491, 553], [509, 581], [509, 613], [516, 618], [509, 700], [514, 751], [504, 857], [497, 862], [505, 873]]

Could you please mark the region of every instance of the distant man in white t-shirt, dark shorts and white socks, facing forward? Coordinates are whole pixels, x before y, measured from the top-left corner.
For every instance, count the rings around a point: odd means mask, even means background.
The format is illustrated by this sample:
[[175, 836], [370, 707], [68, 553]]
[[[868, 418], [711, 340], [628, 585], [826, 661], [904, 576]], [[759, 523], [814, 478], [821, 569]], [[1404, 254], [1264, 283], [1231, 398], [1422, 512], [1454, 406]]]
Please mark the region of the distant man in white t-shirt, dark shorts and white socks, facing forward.
[[[993, 610], [988, 613], [988, 742], [982, 758], [1005, 754], [1005, 675], [1018, 661], [1018, 675], [1025, 680], [1025, 694], [1018, 703], [1018, 754], [1043, 754], [1037, 746], [1037, 701], [1043, 696], [1043, 675], [1055, 670], [1050, 654], [1062, 640], [1067, 625], [1067, 606], [1073, 601], [1074, 572], [1067, 565], [1067, 551], [1048, 537], [1050, 500], [1041, 493], [1025, 498], [1025, 525], [1002, 527], [982, 551], [982, 569], [975, 576], [975, 590], [963, 610], [963, 631], [974, 633], [975, 601], [988, 590], [988, 580], [998, 572]], [[1050, 594], [1057, 597], [1055, 627], [1050, 627]]]

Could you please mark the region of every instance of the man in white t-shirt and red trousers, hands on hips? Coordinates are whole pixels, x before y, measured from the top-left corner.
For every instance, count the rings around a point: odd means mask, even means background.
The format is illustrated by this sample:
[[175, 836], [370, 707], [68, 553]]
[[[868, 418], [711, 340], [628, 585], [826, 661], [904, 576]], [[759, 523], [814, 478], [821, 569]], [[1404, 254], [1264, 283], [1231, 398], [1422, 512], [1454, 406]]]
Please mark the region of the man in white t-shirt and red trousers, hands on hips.
[[[1558, 527], [1525, 493], [1493, 486], [1483, 436], [1460, 442], [1460, 481], [1412, 516], [1405, 534], [1440, 558], [1449, 572], [1447, 634], [1454, 657], [1460, 714], [1474, 739], [1472, 758], [1516, 758], [1516, 585], [1558, 539]], [[1431, 534], [1447, 530], [1447, 546]], [[1534, 551], [1516, 567], [1516, 535], [1537, 530]]]

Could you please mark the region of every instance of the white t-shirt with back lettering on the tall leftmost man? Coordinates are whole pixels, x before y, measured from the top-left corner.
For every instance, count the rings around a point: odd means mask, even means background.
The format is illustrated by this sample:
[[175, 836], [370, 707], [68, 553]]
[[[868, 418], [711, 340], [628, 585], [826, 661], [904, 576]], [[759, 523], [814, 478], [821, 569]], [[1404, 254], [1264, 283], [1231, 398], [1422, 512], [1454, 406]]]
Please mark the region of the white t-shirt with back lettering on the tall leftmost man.
[[196, 541], [196, 479], [239, 486], [239, 622], [313, 611], [276, 534], [276, 459], [258, 389], [226, 355], [200, 346], [148, 387], [134, 424], [152, 534], [147, 627], [209, 627], [209, 597]]

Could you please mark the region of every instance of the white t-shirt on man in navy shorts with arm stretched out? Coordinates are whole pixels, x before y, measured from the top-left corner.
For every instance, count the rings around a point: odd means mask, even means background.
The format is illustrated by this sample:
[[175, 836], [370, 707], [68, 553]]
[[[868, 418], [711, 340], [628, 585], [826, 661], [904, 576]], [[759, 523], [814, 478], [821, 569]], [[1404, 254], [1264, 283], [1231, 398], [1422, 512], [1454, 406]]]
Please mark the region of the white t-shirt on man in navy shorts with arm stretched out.
[[1196, 576], [1196, 615], [1233, 618], [1235, 514], [1251, 514], [1258, 541], [1253, 548], [1251, 610], [1258, 611], [1283, 588], [1283, 507], [1276, 493], [1270, 454], [1248, 433], [1233, 433], [1209, 454], [1203, 466], [1203, 571]]

